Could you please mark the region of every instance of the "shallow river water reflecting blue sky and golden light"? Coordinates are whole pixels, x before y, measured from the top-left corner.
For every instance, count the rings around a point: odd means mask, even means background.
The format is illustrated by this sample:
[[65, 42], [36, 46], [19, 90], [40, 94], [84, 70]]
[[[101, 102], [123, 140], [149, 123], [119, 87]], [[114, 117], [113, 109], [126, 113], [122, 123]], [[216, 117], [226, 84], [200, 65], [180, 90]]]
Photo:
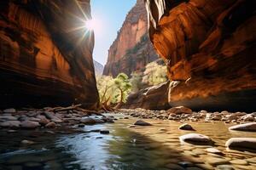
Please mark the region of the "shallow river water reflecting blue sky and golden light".
[[[59, 129], [55, 134], [44, 129], [17, 133], [0, 129], [0, 169], [214, 169], [219, 164], [256, 169], [256, 154], [224, 147], [231, 137], [256, 138], [256, 133], [230, 132], [232, 124], [223, 122], [189, 122], [195, 133], [216, 142], [213, 147], [224, 153], [218, 156], [205, 151], [212, 146], [180, 144], [178, 137], [191, 132], [178, 130], [179, 122], [146, 120], [154, 126], [127, 127], [135, 121], [130, 118], [80, 127], [83, 132]], [[88, 133], [93, 129], [110, 133]], [[35, 144], [20, 144], [22, 139]], [[222, 162], [214, 162], [216, 159]]]

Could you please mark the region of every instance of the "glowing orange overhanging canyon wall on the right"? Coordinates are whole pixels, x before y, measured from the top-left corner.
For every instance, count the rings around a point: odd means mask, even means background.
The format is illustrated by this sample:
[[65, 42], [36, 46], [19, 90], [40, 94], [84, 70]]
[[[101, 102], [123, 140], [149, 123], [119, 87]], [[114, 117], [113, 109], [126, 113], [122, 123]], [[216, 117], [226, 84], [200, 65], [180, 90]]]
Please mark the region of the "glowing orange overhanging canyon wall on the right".
[[150, 39], [175, 81], [171, 105], [255, 110], [255, 1], [145, 3]]

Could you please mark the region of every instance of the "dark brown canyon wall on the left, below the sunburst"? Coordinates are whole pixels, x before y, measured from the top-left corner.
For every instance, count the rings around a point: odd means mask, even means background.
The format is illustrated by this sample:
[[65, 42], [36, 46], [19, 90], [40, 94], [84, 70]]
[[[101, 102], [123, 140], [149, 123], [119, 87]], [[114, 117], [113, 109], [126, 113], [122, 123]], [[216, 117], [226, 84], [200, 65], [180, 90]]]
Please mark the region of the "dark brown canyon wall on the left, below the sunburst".
[[93, 33], [76, 29], [90, 18], [90, 0], [1, 1], [0, 14], [1, 107], [96, 108]]

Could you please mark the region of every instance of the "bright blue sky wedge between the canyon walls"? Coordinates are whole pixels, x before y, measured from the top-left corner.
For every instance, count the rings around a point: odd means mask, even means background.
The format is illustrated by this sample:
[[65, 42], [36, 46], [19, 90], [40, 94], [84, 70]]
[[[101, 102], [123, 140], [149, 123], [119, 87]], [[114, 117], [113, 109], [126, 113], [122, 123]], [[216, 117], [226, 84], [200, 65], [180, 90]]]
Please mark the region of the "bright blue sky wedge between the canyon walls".
[[97, 23], [97, 28], [94, 30], [93, 59], [102, 65], [106, 64], [108, 48], [117, 37], [126, 14], [135, 3], [136, 0], [90, 0], [91, 15]]

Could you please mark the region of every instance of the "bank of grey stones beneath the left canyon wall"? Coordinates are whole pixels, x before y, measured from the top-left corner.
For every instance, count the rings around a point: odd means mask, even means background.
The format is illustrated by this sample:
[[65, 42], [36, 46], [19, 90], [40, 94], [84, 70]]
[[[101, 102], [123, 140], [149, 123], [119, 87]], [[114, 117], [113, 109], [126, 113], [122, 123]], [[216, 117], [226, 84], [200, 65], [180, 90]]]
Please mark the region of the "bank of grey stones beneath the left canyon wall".
[[10, 129], [72, 127], [74, 125], [83, 127], [85, 124], [93, 125], [104, 122], [113, 122], [113, 117], [102, 116], [96, 111], [84, 110], [79, 108], [79, 105], [20, 110], [9, 108], [0, 111], [0, 127]]

